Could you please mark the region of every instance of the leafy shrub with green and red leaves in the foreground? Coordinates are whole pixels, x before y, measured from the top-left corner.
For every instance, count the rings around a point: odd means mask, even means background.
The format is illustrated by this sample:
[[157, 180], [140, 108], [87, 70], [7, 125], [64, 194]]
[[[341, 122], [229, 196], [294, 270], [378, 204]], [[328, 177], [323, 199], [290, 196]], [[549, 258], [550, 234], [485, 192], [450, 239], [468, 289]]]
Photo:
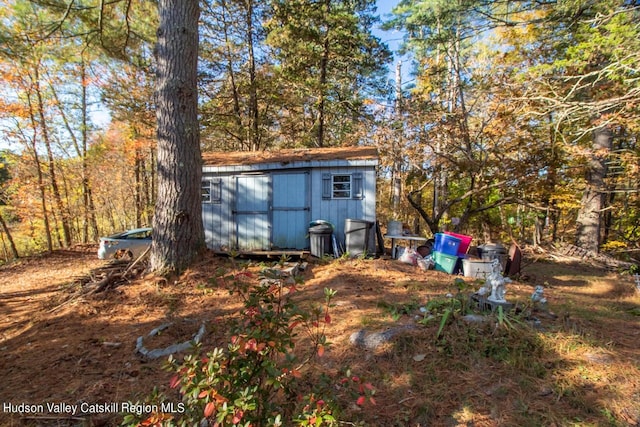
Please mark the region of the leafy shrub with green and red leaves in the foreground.
[[[244, 302], [241, 316], [229, 328], [226, 348], [203, 355], [197, 346], [182, 361], [170, 357], [165, 366], [174, 373], [169, 385], [179, 391], [184, 411], [129, 414], [124, 425], [248, 427], [280, 426], [291, 420], [299, 426], [336, 424], [337, 384], [326, 378], [317, 381], [306, 369], [330, 345], [325, 328], [331, 323], [336, 292], [325, 289], [322, 304], [302, 309], [292, 299], [295, 284], [265, 276], [256, 284], [248, 271], [218, 273], [212, 282], [227, 286]], [[306, 335], [306, 348], [296, 348], [299, 332]], [[371, 403], [372, 389], [365, 385], [362, 392]], [[358, 397], [356, 403], [365, 402]]]

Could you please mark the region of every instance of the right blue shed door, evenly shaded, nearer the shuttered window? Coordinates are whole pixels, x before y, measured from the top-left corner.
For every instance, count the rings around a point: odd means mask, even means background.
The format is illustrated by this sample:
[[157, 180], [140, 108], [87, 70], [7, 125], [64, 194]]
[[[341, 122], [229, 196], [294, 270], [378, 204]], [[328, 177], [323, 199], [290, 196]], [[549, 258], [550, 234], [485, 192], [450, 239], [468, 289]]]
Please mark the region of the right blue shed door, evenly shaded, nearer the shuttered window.
[[273, 247], [304, 249], [309, 244], [309, 174], [273, 175]]

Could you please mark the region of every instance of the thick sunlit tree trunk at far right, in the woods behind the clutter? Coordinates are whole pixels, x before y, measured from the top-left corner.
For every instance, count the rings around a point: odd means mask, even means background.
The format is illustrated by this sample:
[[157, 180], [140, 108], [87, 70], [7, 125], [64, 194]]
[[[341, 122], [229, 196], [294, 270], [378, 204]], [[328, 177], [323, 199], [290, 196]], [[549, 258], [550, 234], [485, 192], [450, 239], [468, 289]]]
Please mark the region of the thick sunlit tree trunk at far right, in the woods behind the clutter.
[[607, 175], [607, 155], [611, 151], [613, 133], [601, 128], [593, 133], [594, 152], [586, 173], [586, 188], [582, 194], [582, 203], [578, 212], [576, 246], [598, 252], [602, 210], [604, 208], [604, 179]]

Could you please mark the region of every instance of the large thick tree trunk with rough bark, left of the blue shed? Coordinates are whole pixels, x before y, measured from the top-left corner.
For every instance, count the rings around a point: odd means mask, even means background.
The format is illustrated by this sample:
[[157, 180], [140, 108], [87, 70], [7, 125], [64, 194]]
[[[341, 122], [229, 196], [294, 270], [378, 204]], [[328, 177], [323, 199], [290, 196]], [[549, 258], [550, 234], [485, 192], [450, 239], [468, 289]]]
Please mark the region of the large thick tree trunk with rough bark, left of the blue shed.
[[198, 129], [198, 0], [160, 0], [158, 76], [158, 194], [151, 270], [183, 271], [204, 248]]

